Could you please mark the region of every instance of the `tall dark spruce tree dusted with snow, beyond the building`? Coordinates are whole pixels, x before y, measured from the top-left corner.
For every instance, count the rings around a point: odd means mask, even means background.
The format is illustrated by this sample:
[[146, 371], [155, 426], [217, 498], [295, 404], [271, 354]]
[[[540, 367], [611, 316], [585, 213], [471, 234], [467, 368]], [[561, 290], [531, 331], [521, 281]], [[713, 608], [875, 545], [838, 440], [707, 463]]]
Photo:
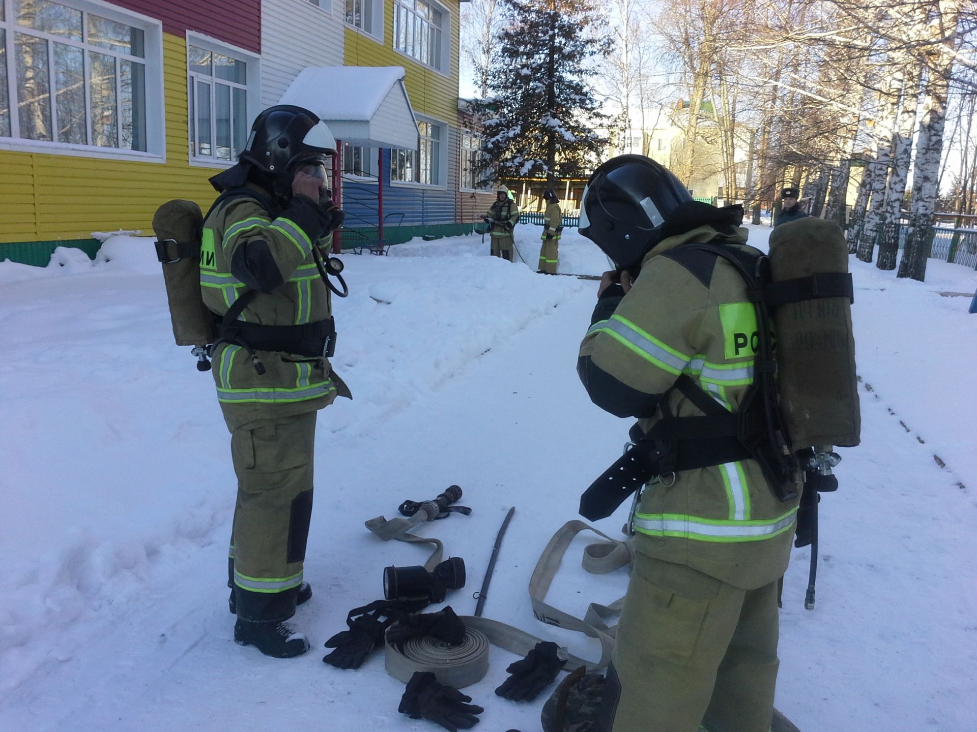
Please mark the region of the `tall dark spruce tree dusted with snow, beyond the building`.
[[607, 142], [586, 83], [590, 60], [610, 53], [595, 0], [505, 0], [501, 47], [490, 69], [491, 97], [479, 105], [484, 167], [497, 178], [557, 180], [589, 175]]

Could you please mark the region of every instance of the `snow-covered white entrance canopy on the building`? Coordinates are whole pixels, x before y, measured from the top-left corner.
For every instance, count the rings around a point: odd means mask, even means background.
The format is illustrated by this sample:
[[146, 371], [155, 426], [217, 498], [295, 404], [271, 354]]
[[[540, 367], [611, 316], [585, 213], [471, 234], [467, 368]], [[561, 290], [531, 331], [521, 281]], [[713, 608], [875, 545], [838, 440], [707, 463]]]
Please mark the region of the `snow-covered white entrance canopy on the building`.
[[342, 142], [417, 146], [417, 122], [404, 88], [403, 66], [305, 68], [280, 103], [316, 112]]

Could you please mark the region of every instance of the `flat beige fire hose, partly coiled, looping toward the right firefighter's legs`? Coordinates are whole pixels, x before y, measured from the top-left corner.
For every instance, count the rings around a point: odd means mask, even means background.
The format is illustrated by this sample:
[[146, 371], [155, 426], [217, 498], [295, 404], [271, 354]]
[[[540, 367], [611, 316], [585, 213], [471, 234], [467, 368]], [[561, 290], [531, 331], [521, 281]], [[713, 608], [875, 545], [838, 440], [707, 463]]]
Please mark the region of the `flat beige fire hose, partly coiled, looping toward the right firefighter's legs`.
[[[573, 538], [584, 530], [592, 531], [607, 540], [584, 549], [583, 567], [588, 572], [607, 574], [631, 563], [628, 542], [611, 539], [583, 521], [569, 521], [550, 539], [546, 549], [543, 549], [532, 572], [530, 598], [532, 612], [542, 622], [558, 628], [576, 630], [600, 641], [601, 658], [597, 662], [567, 654], [567, 668], [584, 666], [587, 671], [599, 671], [611, 662], [614, 649], [616, 627], [609, 626], [606, 618], [619, 612], [623, 597], [610, 605], [591, 603], [582, 620], [546, 602], [546, 593], [560, 567], [563, 555]], [[542, 640], [525, 630], [488, 618], [471, 615], [458, 617], [465, 625], [465, 638], [458, 646], [449, 646], [430, 637], [412, 639], [400, 647], [386, 643], [384, 653], [387, 672], [406, 683], [414, 671], [432, 671], [441, 683], [460, 689], [485, 677], [488, 672], [489, 645], [525, 657]]]

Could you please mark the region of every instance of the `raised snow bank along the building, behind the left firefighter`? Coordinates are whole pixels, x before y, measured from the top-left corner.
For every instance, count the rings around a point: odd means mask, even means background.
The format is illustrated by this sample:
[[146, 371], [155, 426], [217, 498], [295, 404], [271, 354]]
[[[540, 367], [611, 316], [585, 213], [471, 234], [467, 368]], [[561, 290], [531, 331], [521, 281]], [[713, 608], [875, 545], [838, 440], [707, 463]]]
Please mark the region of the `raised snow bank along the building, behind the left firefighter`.
[[[517, 230], [530, 261], [540, 230]], [[469, 236], [343, 256], [333, 367], [354, 400], [320, 435], [368, 435], [580, 285], [487, 254]], [[211, 377], [173, 345], [150, 237], [112, 237], [94, 262], [59, 248], [47, 267], [2, 263], [0, 282], [0, 550], [21, 557], [0, 576], [2, 691], [50, 652], [41, 637], [134, 600], [150, 565], [225, 541], [235, 481]]]

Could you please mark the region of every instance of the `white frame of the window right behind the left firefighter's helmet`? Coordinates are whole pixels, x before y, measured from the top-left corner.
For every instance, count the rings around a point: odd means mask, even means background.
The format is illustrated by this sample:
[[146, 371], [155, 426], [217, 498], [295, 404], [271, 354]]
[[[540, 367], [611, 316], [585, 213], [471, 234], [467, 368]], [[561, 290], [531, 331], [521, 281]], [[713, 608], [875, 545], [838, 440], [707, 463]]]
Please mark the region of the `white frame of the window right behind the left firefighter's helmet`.
[[[255, 117], [258, 116], [258, 112], [261, 111], [261, 57], [250, 51], [245, 51], [242, 48], [236, 46], [231, 46], [227, 43], [223, 43], [216, 38], [211, 38], [210, 36], [203, 35], [202, 33], [187, 33], [187, 64], [186, 64], [186, 78], [187, 78], [187, 154], [190, 160], [190, 164], [194, 167], [203, 168], [230, 168], [237, 162], [237, 157], [234, 155], [234, 150], [231, 153], [231, 160], [225, 160], [223, 158], [215, 157], [212, 155], [195, 155], [193, 149], [193, 142], [197, 139], [195, 127], [196, 127], [196, 114], [195, 110], [191, 108], [191, 79], [195, 85], [197, 79], [209, 79], [207, 83], [210, 84], [210, 119], [211, 119], [211, 149], [216, 151], [217, 148], [217, 114], [216, 106], [214, 104], [216, 100], [216, 85], [214, 83], [214, 76], [207, 76], [206, 74], [200, 74], [195, 71], [190, 70], [190, 47], [195, 46], [196, 48], [203, 49], [204, 51], [210, 51], [212, 53], [221, 54], [222, 56], [230, 56], [233, 59], [239, 61], [244, 61], [247, 64], [247, 81], [244, 84], [238, 84], [233, 81], [228, 81], [226, 79], [217, 79], [220, 84], [227, 85], [232, 89], [244, 89], [247, 93], [247, 98], [245, 106], [247, 108], [247, 119], [244, 122], [244, 127], [246, 130], [251, 129], [251, 123], [254, 122]], [[194, 90], [195, 95], [195, 90]], [[194, 97], [195, 99], [195, 97]], [[234, 92], [232, 92], [231, 97], [231, 113], [232, 113], [232, 133], [234, 131]], [[233, 138], [232, 138], [233, 139]]]

